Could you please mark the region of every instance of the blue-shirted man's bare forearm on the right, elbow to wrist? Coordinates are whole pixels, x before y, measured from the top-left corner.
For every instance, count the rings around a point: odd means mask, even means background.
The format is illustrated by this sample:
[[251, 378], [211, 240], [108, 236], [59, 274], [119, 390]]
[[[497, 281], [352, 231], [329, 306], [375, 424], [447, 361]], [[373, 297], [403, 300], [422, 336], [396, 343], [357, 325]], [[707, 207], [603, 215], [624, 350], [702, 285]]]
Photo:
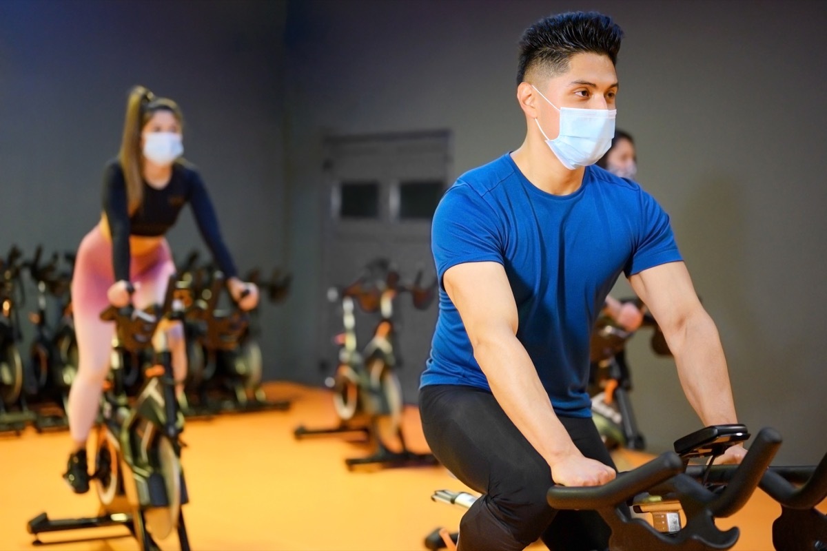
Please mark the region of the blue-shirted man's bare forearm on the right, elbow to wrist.
[[700, 308], [666, 336], [683, 392], [704, 425], [737, 422], [724, 349], [709, 314]]

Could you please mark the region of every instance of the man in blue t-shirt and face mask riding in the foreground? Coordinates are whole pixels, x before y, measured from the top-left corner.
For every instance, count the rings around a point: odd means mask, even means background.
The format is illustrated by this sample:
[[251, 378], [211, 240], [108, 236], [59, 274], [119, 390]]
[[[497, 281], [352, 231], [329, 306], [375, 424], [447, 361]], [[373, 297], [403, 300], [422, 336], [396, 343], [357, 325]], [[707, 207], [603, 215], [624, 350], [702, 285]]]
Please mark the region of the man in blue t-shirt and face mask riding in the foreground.
[[[622, 272], [675, 355], [705, 425], [736, 422], [724, 352], [696, 296], [669, 217], [647, 192], [590, 166], [614, 135], [623, 32], [566, 13], [524, 32], [518, 150], [463, 174], [433, 219], [439, 318], [420, 409], [433, 453], [484, 494], [460, 525], [462, 551], [605, 549], [593, 511], [547, 506], [552, 483], [615, 476], [590, 420], [590, 331]], [[724, 460], [737, 463], [742, 447]]]

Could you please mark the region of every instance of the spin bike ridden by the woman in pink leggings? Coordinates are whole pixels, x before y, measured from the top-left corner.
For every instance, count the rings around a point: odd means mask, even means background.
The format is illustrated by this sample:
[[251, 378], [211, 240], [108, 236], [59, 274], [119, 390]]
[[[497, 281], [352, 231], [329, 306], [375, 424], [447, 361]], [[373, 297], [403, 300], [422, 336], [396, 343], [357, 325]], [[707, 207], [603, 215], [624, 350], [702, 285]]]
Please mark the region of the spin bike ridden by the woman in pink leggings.
[[[189, 501], [181, 471], [180, 434], [184, 416], [175, 399], [172, 354], [166, 334], [171, 321], [180, 321], [174, 296], [185, 292], [177, 278], [170, 278], [163, 306], [146, 311], [132, 306], [110, 306], [101, 314], [115, 323], [112, 340], [111, 384], [103, 393], [103, 422], [98, 426], [95, 472], [100, 510], [97, 516], [50, 520], [41, 513], [29, 521], [34, 534], [63, 532], [103, 526], [124, 526], [141, 551], [160, 549], [155, 539], [177, 534], [182, 551], [189, 539], [181, 506]], [[123, 384], [123, 362], [128, 354], [152, 346], [156, 363], [146, 370], [146, 382], [130, 406]]]

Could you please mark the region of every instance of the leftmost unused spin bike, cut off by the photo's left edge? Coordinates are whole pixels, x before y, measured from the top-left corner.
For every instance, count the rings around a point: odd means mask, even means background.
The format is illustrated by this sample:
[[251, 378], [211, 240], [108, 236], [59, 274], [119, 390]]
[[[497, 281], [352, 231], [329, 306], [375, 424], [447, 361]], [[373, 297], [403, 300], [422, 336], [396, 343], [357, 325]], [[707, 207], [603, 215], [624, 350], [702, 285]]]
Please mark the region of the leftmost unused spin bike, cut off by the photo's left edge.
[[18, 298], [25, 300], [18, 262], [22, 251], [12, 247], [5, 262], [0, 259], [0, 432], [19, 435], [35, 414], [23, 392], [23, 361], [17, 349], [21, 340]]

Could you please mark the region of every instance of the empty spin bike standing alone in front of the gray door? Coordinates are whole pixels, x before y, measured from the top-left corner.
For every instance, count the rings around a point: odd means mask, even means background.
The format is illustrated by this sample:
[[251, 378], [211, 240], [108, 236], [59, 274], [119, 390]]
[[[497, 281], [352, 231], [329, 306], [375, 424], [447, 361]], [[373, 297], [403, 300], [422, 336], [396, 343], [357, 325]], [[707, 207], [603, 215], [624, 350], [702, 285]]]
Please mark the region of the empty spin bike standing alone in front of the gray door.
[[[333, 405], [339, 425], [329, 429], [294, 430], [297, 439], [310, 435], [334, 435], [361, 432], [373, 452], [364, 458], [347, 458], [347, 468], [365, 465], [406, 467], [435, 465], [433, 454], [415, 454], [404, 442], [402, 414], [404, 400], [399, 378], [394, 372], [398, 360], [394, 354], [394, 300], [401, 292], [410, 292], [414, 306], [427, 308], [434, 297], [434, 285], [421, 286], [422, 273], [414, 283], [399, 283], [399, 273], [387, 261], [375, 260], [368, 274], [345, 288], [332, 287], [327, 298], [341, 302], [344, 332], [337, 335], [339, 366], [327, 380], [333, 390]], [[380, 312], [380, 322], [364, 349], [356, 342], [356, 302], [367, 313]]]

